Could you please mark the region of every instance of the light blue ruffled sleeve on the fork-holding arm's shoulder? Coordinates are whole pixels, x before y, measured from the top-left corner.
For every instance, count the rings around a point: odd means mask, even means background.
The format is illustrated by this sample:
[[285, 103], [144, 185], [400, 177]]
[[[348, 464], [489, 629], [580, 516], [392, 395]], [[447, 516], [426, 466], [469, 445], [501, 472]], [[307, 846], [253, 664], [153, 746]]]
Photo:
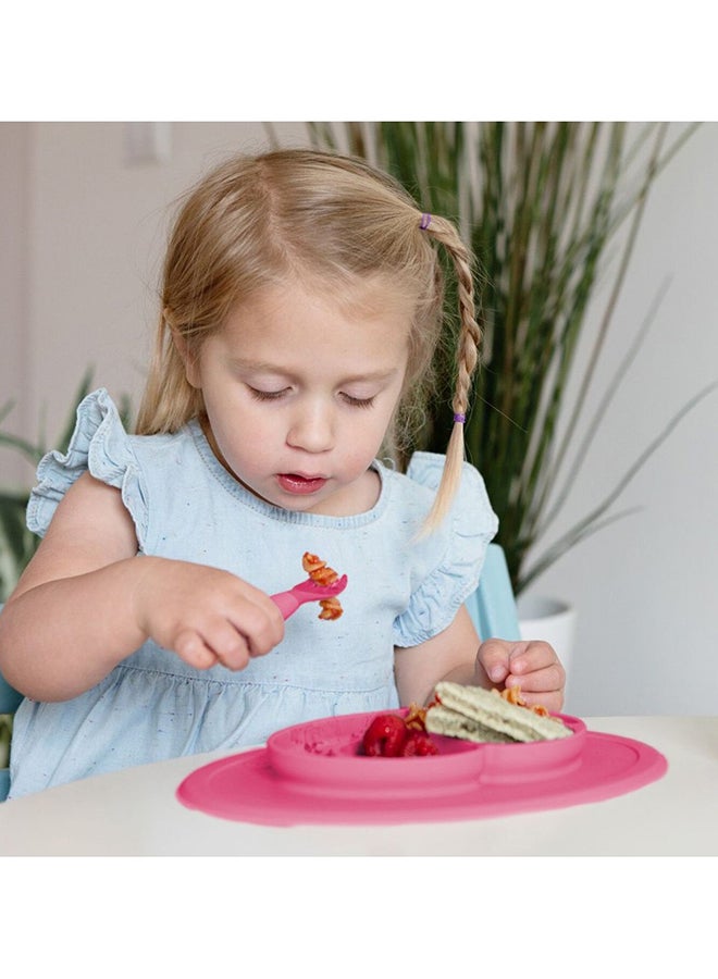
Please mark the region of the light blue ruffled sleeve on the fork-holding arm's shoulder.
[[44, 536], [58, 504], [84, 472], [114, 486], [129, 511], [143, 548], [147, 536], [147, 495], [141, 472], [120, 413], [104, 388], [87, 395], [65, 455], [48, 453], [37, 468], [37, 485], [27, 505], [27, 526]]

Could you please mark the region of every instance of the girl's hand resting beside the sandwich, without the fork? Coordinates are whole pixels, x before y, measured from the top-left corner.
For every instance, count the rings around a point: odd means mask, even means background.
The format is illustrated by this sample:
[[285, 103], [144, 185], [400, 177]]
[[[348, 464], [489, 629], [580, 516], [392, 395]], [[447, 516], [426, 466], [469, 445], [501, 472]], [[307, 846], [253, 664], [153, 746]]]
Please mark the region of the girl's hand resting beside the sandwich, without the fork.
[[566, 671], [553, 646], [531, 640], [486, 640], [479, 647], [476, 665], [494, 686], [519, 686], [530, 706], [557, 712], [564, 705]]

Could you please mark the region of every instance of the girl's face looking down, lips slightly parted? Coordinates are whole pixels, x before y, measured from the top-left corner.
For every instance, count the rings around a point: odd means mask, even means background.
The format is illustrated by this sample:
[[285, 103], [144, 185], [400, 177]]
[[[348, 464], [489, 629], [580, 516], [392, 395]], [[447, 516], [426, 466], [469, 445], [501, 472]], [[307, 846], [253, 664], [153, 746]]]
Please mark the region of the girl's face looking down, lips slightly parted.
[[386, 284], [359, 298], [341, 306], [298, 283], [262, 290], [185, 357], [215, 455], [275, 506], [348, 516], [376, 501], [369, 466], [401, 394], [411, 324]]

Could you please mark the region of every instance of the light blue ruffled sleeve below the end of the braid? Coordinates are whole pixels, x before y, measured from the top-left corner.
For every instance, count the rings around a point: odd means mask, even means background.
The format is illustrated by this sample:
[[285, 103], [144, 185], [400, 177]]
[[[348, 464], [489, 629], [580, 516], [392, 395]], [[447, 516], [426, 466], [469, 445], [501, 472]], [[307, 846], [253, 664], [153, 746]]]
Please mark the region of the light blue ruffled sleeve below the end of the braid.
[[[407, 475], [432, 491], [438, 487], [444, 456], [417, 453]], [[426, 538], [431, 570], [412, 592], [409, 606], [394, 623], [395, 645], [416, 646], [446, 629], [471, 595], [481, 575], [486, 547], [498, 530], [484, 481], [463, 463], [461, 483], [444, 524]]]

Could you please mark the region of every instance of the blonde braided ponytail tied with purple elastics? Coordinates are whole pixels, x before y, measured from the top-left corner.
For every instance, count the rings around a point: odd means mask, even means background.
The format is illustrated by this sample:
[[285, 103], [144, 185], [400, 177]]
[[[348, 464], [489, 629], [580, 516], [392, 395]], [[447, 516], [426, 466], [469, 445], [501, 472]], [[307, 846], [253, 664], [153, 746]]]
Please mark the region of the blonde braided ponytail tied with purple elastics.
[[463, 424], [469, 409], [471, 382], [479, 361], [481, 329], [475, 319], [471, 256], [455, 226], [443, 218], [422, 214], [420, 227], [443, 245], [451, 258], [457, 278], [460, 318], [456, 350], [456, 386], [451, 401], [454, 426], [446, 448], [442, 480], [422, 531], [429, 534], [445, 518], [461, 480], [465, 459]]

